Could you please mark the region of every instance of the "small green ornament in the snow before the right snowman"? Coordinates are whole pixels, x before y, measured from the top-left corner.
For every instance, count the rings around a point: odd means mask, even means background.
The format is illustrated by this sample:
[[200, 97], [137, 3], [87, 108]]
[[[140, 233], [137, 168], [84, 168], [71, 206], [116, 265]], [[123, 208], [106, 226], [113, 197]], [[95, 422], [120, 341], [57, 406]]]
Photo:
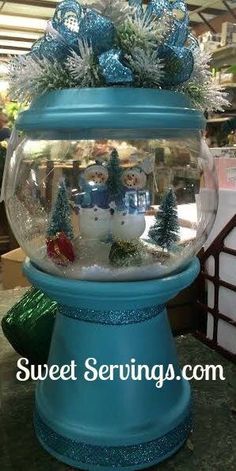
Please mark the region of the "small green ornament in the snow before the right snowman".
[[139, 241], [117, 240], [111, 246], [109, 260], [115, 267], [141, 265], [143, 247]]

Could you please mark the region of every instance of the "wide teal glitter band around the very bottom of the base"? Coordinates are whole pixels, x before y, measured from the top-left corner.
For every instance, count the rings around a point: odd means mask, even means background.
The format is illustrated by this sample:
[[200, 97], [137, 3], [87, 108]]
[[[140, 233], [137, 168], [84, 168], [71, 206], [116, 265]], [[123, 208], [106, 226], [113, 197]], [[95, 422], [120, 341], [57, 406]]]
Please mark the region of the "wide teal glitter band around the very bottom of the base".
[[75, 465], [126, 467], [152, 465], [170, 455], [187, 439], [192, 428], [191, 414], [183, 422], [166, 435], [146, 443], [128, 446], [98, 446], [77, 442], [54, 432], [35, 413], [35, 430], [47, 449], [57, 455], [72, 460]]

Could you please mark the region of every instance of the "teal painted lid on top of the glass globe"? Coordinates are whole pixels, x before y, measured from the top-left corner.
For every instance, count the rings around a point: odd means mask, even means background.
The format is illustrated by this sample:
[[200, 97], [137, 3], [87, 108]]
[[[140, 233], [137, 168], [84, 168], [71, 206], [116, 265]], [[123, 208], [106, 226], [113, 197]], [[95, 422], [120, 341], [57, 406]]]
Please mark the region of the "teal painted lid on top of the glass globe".
[[203, 130], [205, 118], [174, 91], [82, 88], [40, 96], [20, 113], [16, 127], [43, 139], [144, 139]]

